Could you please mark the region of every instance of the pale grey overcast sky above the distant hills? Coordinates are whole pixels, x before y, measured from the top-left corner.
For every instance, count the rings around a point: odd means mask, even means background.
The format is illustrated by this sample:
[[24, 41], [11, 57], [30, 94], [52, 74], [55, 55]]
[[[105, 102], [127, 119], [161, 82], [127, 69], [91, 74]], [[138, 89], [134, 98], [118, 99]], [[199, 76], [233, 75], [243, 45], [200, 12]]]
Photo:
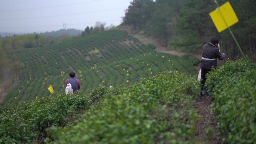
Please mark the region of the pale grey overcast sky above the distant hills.
[[30, 33], [67, 28], [84, 30], [95, 22], [121, 24], [132, 0], [0, 0], [0, 32]]

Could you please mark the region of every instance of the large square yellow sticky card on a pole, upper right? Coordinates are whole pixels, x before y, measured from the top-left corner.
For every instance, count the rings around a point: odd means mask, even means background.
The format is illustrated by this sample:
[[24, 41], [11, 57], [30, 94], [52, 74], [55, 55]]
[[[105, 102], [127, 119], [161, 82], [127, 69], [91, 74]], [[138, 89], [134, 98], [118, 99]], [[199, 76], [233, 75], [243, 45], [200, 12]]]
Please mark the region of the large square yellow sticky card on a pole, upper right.
[[219, 9], [209, 13], [209, 15], [219, 33], [238, 22], [237, 15], [229, 1], [220, 6]]

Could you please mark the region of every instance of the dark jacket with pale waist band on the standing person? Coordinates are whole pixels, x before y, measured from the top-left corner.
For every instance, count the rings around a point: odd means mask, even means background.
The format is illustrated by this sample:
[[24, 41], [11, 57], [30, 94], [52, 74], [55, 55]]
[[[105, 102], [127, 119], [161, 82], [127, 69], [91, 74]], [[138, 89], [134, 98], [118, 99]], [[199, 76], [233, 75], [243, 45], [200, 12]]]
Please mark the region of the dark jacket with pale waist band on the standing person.
[[222, 60], [226, 57], [226, 54], [221, 54], [217, 46], [213, 43], [207, 43], [204, 45], [202, 50], [201, 68], [206, 68], [208, 70], [217, 68], [217, 58]]

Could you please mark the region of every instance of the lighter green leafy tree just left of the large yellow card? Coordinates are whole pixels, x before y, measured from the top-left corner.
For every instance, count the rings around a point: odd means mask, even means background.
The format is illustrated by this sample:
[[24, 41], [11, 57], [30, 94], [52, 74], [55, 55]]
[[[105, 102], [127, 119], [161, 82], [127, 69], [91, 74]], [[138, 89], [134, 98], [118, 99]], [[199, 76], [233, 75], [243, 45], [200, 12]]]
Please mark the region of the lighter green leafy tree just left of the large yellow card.
[[[206, 1], [206, 0], [205, 0]], [[216, 28], [210, 19], [209, 12], [214, 8], [211, 4], [200, 0], [191, 0], [187, 7], [180, 10], [180, 18], [174, 24], [174, 37], [168, 46], [184, 52], [201, 50], [203, 42], [217, 35]]]

